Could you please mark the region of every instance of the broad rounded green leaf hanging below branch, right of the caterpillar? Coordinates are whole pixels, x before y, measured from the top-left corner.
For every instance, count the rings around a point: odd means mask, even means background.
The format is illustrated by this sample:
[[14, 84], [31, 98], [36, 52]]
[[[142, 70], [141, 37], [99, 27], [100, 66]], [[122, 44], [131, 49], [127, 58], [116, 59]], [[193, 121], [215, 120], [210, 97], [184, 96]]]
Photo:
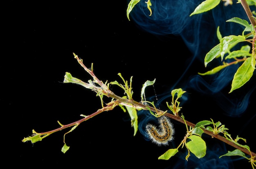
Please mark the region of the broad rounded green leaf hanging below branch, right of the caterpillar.
[[188, 137], [191, 141], [186, 143], [187, 148], [197, 158], [202, 158], [206, 154], [206, 144], [200, 136], [192, 135]]

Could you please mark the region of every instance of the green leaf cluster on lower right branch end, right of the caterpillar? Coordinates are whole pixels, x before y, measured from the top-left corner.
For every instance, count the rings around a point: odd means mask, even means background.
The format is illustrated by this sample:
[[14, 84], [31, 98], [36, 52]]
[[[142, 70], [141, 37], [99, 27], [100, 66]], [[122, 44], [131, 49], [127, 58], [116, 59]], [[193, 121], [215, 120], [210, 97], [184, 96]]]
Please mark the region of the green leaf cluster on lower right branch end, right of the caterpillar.
[[[184, 120], [184, 123], [186, 125], [186, 121], [184, 119], [184, 116], [182, 115], [181, 117]], [[186, 160], [188, 160], [188, 158], [190, 156], [190, 153], [193, 153], [197, 158], [203, 158], [206, 155], [206, 150], [207, 150], [206, 143], [202, 139], [202, 134], [204, 133], [204, 129], [208, 130], [208, 131], [211, 131], [214, 135], [218, 135], [218, 134], [221, 133], [230, 142], [233, 142], [235, 145], [238, 145], [239, 147], [245, 148], [249, 152], [251, 152], [249, 146], [242, 145], [242, 144], [238, 143], [239, 140], [243, 140], [244, 142], [246, 142], [246, 140], [244, 138], [240, 138], [238, 136], [236, 136], [236, 139], [233, 139], [231, 137], [231, 135], [227, 132], [228, 129], [225, 127], [225, 125], [222, 125], [221, 122], [216, 122], [215, 123], [215, 122], [213, 122], [212, 119], [211, 119], [211, 121], [203, 120], [203, 121], [198, 122], [195, 125], [195, 127], [190, 127], [190, 129], [186, 125], [186, 129], [187, 129], [186, 136], [181, 141], [180, 145], [177, 148], [168, 149], [164, 154], [159, 156], [158, 159], [169, 160], [172, 156], [175, 156], [175, 154], [177, 152], [179, 152], [178, 149], [180, 147], [183, 148], [184, 145], [185, 145], [185, 147], [188, 151], [188, 154], [185, 157]], [[252, 165], [253, 169], [254, 169], [254, 167], [256, 167], [255, 156], [250, 154], [250, 157], [247, 157], [245, 155], [245, 153], [243, 153], [243, 151], [241, 151], [240, 149], [235, 149], [234, 151], [228, 151], [227, 153], [221, 155], [219, 158], [221, 158], [223, 156], [241, 156], [241, 157], [246, 158], [247, 160], [249, 160], [249, 162], [251, 162], [251, 165]]]

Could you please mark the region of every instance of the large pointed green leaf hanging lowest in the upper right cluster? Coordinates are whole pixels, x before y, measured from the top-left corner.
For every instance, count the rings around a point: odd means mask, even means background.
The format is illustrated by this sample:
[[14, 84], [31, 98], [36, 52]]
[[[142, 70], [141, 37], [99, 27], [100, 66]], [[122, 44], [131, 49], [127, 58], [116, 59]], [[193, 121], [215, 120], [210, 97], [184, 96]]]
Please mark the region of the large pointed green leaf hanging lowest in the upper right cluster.
[[255, 70], [255, 59], [249, 57], [243, 62], [243, 64], [237, 69], [231, 84], [231, 90], [229, 93], [245, 85], [250, 80]]

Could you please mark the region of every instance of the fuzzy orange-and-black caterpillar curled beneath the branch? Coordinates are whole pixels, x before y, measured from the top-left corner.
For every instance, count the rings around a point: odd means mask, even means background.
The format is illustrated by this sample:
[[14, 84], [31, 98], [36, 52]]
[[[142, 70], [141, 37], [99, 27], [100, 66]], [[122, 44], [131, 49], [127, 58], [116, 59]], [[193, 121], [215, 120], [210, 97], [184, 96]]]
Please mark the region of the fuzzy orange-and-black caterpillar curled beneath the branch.
[[146, 131], [148, 133], [148, 137], [152, 140], [153, 143], [161, 146], [168, 145], [168, 142], [173, 140], [173, 124], [170, 119], [166, 116], [161, 116], [158, 120], [159, 129], [157, 129], [154, 125], [147, 124]]

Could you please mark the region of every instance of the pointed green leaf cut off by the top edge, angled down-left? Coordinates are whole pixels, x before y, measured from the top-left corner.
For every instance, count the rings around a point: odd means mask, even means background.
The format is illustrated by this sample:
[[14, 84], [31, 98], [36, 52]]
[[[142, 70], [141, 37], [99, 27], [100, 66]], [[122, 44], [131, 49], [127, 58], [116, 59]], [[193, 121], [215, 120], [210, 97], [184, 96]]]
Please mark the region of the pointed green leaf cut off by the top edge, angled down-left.
[[200, 5], [198, 5], [198, 7], [195, 8], [195, 10], [190, 14], [190, 16], [209, 11], [215, 8], [219, 3], [220, 0], [205, 0]]

